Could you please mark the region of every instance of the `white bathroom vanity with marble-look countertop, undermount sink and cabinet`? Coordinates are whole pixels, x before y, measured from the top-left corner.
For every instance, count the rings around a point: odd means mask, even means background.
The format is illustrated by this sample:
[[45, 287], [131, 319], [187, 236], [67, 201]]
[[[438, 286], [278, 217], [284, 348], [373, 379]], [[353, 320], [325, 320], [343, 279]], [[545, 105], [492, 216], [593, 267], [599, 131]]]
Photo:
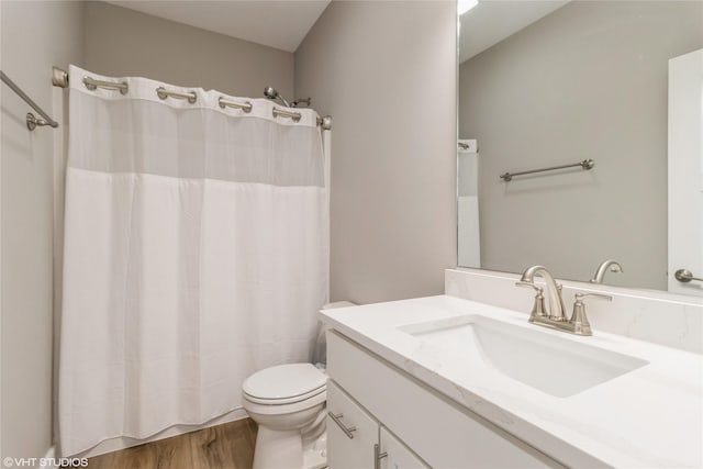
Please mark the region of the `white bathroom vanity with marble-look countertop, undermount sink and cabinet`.
[[701, 355], [448, 295], [321, 314], [332, 469], [703, 465]]

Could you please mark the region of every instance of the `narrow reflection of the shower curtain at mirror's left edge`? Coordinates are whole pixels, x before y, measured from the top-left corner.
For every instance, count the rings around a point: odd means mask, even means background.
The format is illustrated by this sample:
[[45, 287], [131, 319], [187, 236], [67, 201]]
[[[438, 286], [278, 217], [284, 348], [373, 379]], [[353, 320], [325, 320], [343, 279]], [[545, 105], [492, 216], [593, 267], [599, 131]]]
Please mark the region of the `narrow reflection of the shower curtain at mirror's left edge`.
[[476, 139], [459, 139], [457, 152], [458, 261], [481, 267], [479, 233], [479, 158]]

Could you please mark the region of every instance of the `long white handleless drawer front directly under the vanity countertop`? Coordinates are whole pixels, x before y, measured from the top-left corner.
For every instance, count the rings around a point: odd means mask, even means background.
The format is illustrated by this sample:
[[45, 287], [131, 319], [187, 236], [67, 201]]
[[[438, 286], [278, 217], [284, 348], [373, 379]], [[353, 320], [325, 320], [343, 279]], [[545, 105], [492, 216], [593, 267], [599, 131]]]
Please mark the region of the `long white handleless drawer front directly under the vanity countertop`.
[[563, 467], [336, 331], [327, 332], [327, 371], [432, 467]]

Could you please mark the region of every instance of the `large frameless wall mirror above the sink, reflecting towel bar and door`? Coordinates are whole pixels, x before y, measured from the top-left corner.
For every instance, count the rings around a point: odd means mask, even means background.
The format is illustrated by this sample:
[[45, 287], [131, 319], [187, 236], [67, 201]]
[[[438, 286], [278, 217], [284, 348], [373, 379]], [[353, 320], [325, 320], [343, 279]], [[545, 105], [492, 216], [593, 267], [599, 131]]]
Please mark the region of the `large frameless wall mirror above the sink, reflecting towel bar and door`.
[[703, 2], [461, 3], [459, 266], [703, 295]]

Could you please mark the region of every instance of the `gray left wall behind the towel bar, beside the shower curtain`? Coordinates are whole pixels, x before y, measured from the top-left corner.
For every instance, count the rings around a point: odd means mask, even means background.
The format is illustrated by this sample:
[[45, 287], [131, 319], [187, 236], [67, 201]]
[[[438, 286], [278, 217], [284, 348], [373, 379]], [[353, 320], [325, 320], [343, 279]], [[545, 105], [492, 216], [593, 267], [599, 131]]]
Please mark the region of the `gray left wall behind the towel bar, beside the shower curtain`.
[[0, 12], [0, 68], [62, 125], [29, 132], [31, 109], [1, 86], [0, 455], [43, 457], [52, 445], [53, 160], [66, 132], [51, 72], [81, 63], [82, 4], [2, 1]]

